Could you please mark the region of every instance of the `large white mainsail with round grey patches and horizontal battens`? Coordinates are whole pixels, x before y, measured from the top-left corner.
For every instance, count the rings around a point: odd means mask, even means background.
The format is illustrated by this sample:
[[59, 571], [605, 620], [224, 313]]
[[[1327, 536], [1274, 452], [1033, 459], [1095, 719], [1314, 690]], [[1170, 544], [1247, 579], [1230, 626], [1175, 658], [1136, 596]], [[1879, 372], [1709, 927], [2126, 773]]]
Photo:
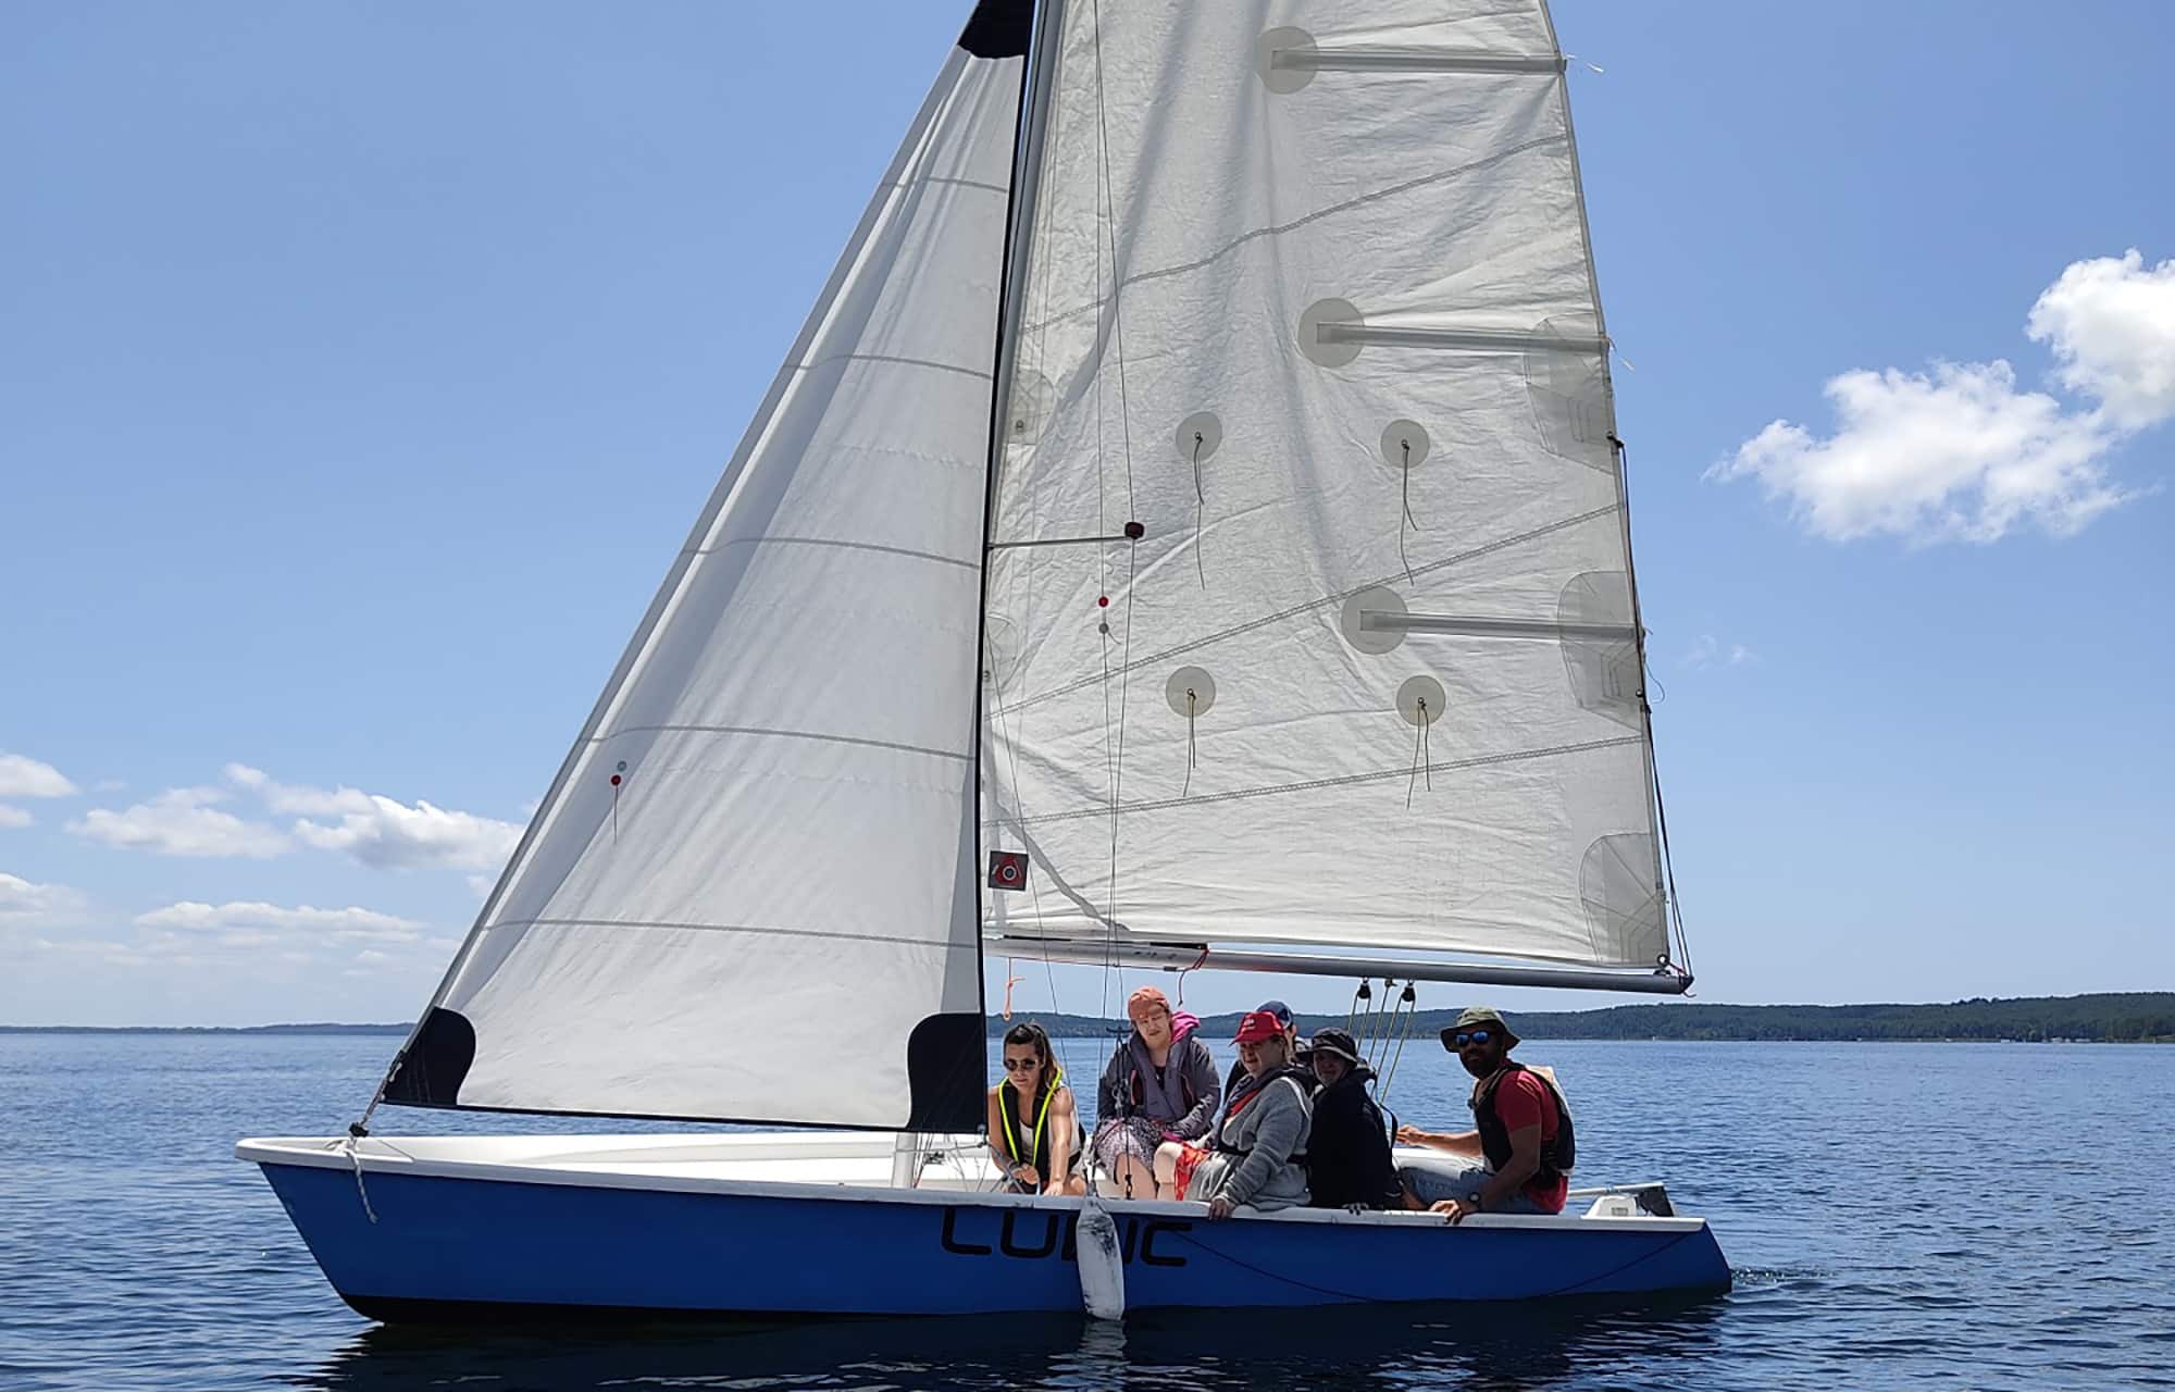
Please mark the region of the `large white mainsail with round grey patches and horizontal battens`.
[[1666, 957], [1562, 67], [1540, 0], [1068, 4], [992, 933]]

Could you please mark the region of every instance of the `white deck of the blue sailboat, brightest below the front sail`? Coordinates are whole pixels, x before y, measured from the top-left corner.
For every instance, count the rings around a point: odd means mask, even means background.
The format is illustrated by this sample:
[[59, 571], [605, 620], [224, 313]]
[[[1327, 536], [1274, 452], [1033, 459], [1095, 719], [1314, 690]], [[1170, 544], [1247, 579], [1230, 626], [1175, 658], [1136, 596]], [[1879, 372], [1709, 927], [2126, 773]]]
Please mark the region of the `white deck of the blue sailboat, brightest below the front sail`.
[[[779, 1198], [831, 1198], [848, 1203], [957, 1203], [974, 1194], [987, 1205], [1070, 1207], [1079, 1198], [998, 1192], [996, 1166], [977, 1135], [927, 1135], [924, 1159], [911, 1188], [894, 1185], [896, 1138], [870, 1131], [746, 1131], [698, 1135], [370, 1135], [346, 1138], [259, 1138], [235, 1144], [235, 1155], [254, 1164], [287, 1164], [331, 1170], [361, 1168], [370, 1174], [418, 1174], [437, 1179], [487, 1179], [500, 1183], [552, 1183], [611, 1190], [716, 1192]], [[1399, 1148], [1396, 1159], [1431, 1157], [1431, 1151]], [[1546, 1227], [1603, 1222], [1642, 1231], [1696, 1231], [1701, 1218], [1653, 1218], [1638, 1209], [1629, 1190], [1573, 1190], [1573, 1207], [1553, 1218], [1475, 1214], [1479, 1227]], [[1581, 1209], [1579, 1203], [1586, 1201]], [[1114, 1211], [1201, 1216], [1198, 1203], [1153, 1198], [1109, 1201]], [[1577, 1211], [1575, 1211], [1577, 1209]], [[1283, 1209], [1266, 1218], [1285, 1222], [1435, 1222], [1435, 1214], [1346, 1214], [1342, 1209]]]

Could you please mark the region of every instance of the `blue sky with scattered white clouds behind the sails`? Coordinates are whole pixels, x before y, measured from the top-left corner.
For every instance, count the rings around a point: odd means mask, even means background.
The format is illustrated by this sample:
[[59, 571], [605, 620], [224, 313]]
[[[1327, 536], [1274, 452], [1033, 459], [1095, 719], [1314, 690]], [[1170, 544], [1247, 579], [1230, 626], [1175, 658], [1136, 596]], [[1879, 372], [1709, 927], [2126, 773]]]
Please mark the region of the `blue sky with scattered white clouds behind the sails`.
[[[966, 9], [0, 9], [0, 1022], [422, 1005]], [[1701, 998], [2175, 987], [2175, 24], [1557, 26]]]

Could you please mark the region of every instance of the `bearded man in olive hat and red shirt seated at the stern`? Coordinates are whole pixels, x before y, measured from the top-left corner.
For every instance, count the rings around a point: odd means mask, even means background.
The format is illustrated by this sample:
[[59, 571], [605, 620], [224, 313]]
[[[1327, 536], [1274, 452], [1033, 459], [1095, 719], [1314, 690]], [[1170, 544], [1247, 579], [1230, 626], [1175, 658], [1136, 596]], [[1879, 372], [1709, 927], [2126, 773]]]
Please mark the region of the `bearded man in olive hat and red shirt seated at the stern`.
[[1399, 1170], [1407, 1209], [1446, 1214], [1562, 1214], [1575, 1159], [1570, 1107], [1546, 1074], [1516, 1064], [1503, 1014], [1475, 1005], [1442, 1031], [1442, 1046], [1475, 1077], [1472, 1131], [1399, 1127], [1396, 1140], [1464, 1157]]

